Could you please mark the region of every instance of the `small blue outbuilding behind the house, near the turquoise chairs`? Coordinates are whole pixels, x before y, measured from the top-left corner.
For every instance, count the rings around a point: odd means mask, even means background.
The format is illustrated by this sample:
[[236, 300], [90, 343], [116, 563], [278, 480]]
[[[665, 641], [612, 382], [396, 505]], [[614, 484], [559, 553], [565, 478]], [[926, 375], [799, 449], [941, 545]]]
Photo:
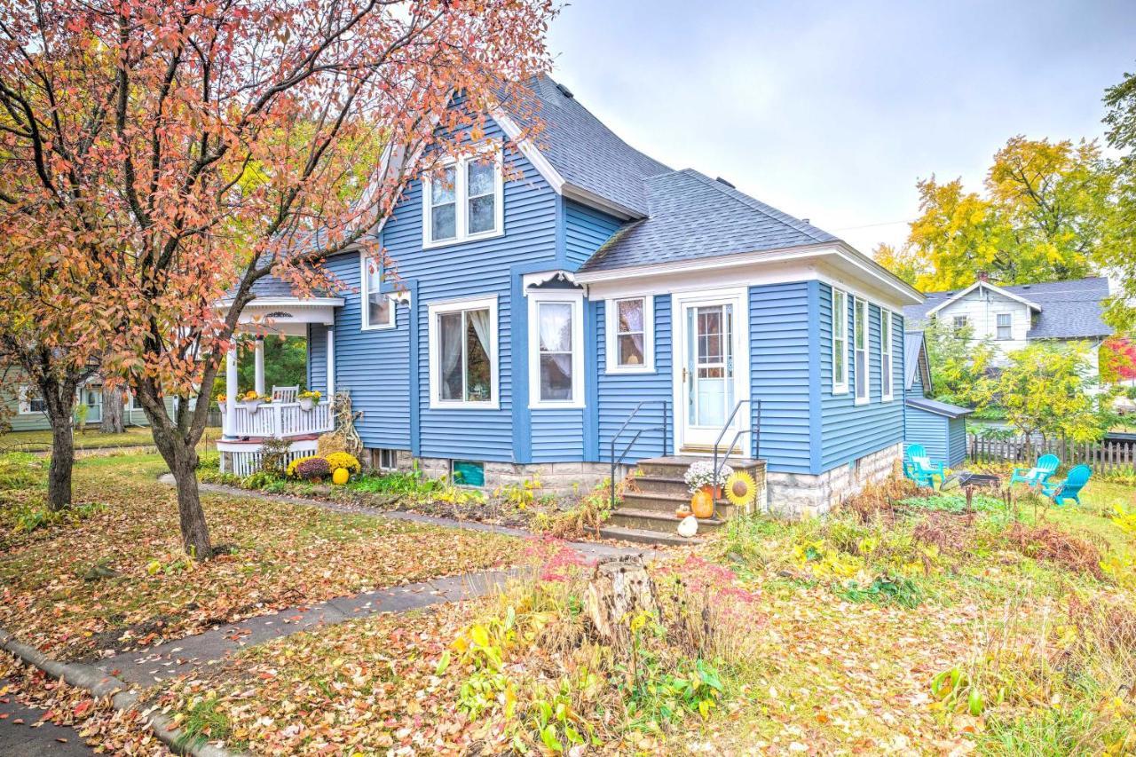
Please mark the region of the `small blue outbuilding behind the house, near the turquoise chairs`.
[[904, 335], [903, 439], [907, 444], [922, 444], [933, 463], [943, 460], [950, 468], [967, 459], [967, 408], [929, 399], [930, 363], [921, 331]]

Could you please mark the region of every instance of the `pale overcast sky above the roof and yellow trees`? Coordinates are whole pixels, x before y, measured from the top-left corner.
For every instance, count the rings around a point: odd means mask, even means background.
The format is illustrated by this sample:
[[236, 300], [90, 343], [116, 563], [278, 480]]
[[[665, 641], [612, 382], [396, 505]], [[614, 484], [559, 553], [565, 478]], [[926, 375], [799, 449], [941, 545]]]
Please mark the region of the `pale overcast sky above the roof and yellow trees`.
[[870, 252], [907, 236], [918, 177], [979, 189], [1014, 134], [1100, 136], [1136, 0], [573, 0], [550, 47], [634, 147]]

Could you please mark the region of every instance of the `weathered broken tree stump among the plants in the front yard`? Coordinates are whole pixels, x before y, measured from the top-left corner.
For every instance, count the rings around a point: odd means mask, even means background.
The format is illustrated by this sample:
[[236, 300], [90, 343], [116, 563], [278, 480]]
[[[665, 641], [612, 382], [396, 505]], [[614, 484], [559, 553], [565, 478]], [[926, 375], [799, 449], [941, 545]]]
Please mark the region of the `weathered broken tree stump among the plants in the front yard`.
[[655, 608], [654, 584], [638, 555], [615, 557], [595, 566], [584, 607], [596, 635], [612, 646], [627, 639], [628, 615]]

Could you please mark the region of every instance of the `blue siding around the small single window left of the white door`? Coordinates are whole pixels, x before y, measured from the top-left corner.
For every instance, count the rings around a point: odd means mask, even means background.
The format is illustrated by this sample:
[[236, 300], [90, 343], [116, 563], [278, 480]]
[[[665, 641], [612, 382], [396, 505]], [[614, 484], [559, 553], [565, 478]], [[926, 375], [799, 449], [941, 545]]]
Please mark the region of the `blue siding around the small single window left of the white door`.
[[635, 406], [643, 400], [651, 400], [628, 424], [624, 435], [616, 447], [616, 456], [630, 441], [636, 431], [643, 431], [628, 452], [625, 461], [634, 463], [643, 457], [658, 457], [662, 454], [663, 439], [661, 431], [648, 431], [662, 425], [662, 401], [668, 404], [667, 450], [674, 449], [675, 424], [671, 382], [671, 333], [670, 333], [670, 296], [659, 294], [654, 298], [654, 373], [608, 374], [607, 373], [607, 322], [604, 307], [607, 302], [596, 302], [596, 360], [599, 371], [599, 459], [611, 460], [611, 439], [619, 426], [632, 414]]

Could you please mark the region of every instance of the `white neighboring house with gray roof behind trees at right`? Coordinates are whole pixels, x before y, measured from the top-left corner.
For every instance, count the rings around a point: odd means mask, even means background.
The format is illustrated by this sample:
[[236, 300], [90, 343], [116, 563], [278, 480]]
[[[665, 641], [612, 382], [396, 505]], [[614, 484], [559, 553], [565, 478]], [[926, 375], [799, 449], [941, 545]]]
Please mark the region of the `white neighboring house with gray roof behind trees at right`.
[[1104, 277], [999, 286], [978, 281], [962, 290], [933, 292], [903, 309], [909, 327], [937, 318], [969, 325], [976, 339], [989, 339], [1004, 357], [1035, 341], [1084, 342], [1097, 375], [1097, 348], [1112, 334], [1103, 319], [1109, 297]]

